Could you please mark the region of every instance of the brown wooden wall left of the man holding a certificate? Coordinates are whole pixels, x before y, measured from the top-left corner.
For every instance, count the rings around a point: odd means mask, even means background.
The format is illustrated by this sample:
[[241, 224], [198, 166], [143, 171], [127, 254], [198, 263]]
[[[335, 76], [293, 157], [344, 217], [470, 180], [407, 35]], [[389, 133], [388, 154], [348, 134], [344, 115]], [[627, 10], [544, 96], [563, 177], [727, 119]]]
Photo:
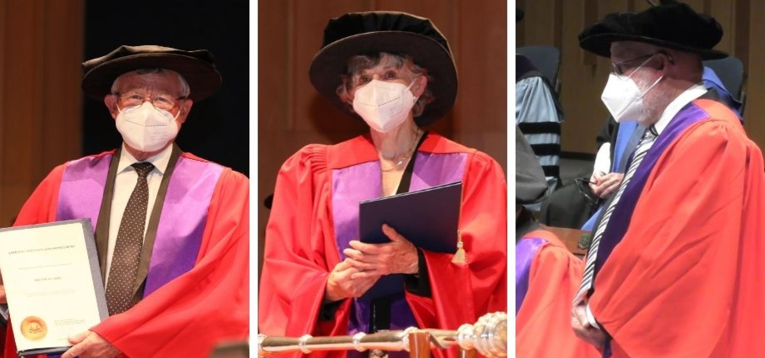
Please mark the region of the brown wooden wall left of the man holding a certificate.
[[0, 0], [0, 227], [80, 154], [82, 31], [82, 0]]

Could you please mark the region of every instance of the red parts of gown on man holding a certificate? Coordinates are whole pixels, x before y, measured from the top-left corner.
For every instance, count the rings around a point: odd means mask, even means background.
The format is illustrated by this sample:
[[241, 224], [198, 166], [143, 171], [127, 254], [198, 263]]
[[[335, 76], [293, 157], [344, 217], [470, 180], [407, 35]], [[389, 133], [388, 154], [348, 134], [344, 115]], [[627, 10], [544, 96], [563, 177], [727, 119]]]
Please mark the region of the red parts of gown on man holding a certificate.
[[[181, 155], [201, 160], [190, 153]], [[21, 208], [15, 226], [56, 220], [58, 192], [66, 165], [57, 166], [37, 186]], [[222, 340], [246, 340], [249, 336], [249, 179], [231, 169], [223, 170], [210, 201], [193, 269], [128, 311], [106, 318], [91, 331], [130, 358], [201, 358], [210, 356], [213, 347]], [[5, 335], [3, 357], [15, 358], [10, 328]]]

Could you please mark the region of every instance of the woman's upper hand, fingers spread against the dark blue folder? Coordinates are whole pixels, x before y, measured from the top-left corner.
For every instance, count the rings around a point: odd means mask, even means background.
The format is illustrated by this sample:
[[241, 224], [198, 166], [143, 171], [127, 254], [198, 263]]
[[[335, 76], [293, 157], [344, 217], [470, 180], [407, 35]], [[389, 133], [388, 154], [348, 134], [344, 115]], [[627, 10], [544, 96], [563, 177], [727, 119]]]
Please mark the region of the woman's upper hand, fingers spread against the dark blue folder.
[[405, 237], [387, 224], [382, 224], [382, 233], [390, 239], [386, 244], [365, 244], [353, 240], [350, 248], [343, 250], [345, 260], [358, 273], [353, 279], [377, 277], [392, 273], [417, 273], [417, 248]]

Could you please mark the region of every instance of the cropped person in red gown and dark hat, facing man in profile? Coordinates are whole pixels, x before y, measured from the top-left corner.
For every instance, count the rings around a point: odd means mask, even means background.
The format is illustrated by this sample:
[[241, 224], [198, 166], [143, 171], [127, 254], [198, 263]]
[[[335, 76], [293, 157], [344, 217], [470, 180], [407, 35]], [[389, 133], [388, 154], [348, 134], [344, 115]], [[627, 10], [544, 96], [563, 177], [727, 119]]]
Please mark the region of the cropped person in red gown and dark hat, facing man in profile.
[[542, 168], [516, 127], [516, 356], [597, 358], [571, 331], [571, 299], [584, 264], [523, 206], [546, 191]]

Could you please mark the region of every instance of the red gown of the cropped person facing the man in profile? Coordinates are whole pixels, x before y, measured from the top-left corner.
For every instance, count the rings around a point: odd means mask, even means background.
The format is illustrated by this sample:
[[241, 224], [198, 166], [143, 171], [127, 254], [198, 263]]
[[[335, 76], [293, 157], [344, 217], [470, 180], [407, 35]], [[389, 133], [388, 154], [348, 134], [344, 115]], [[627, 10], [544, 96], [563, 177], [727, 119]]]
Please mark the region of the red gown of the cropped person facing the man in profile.
[[540, 237], [546, 243], [532, 260], [529, 289], [516, 314], [516, 356], [600, 357], [601, 353], [571, 329], [571, 301], [579, 289], [584, 263], [549, 231], [532, 231], [524, 237]]

